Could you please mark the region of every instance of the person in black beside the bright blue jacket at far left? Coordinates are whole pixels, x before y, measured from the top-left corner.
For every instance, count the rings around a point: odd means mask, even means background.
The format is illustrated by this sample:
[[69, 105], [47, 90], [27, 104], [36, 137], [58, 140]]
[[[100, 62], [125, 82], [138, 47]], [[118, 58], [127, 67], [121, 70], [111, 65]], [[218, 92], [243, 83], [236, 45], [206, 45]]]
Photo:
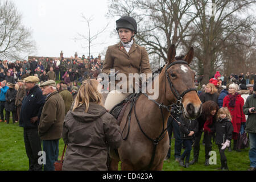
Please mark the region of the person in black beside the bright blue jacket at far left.
[[6, 122], [9, 124], [10, 121], [10, 113], [13, 114], [13, 124], [16, 121], [16, 106], [15, 106], [15, 98], [17, 94], [17, 90], [14, 88], [14, 84], [8, 82], [7, 86], [9, 86], [9, 89], [7, 90], [5, 94], [5, 111], [6, 111]]

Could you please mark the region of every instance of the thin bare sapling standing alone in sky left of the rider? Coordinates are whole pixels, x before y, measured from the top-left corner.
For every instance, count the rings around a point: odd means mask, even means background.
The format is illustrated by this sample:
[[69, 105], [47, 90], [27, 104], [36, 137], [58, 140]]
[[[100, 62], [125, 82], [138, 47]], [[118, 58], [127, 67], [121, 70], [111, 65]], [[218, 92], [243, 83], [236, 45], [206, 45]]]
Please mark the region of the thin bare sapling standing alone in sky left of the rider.
[[96, 40], [98, 38], [98, 36], [100, 36], [102, 34], [102, 32], [104, 32], [106, 30], [106, 28], [108, 28], [109, 24], [106, 24], [106, 26], [104, 28], [102, 28], [100, 31], [97, 31], [96, 34], [91, 34], [91, 30], [90, 30], [90, 23], [93, 21], [92, 16], [90, 18], [86, 18], [86, 16], [84, 14], [82, 14], [82, 19], [83, 21], [87, 24], [88, 27], [88, 34], [84, 35], [84, 34], [78, 34], [78, 38], [75, 38], [75, 40], [82, 40], [82, 41], [86, 41], [88, 46], [82, 47], [82, 48], [88, 48], [89, 51], [89, 55], [90, 55], [90, 48], [92, 48], [93, 46], [96, 45], [100, 45], [100, 44], [104, 44], [104, 43], [93, 43], [94, 40]]

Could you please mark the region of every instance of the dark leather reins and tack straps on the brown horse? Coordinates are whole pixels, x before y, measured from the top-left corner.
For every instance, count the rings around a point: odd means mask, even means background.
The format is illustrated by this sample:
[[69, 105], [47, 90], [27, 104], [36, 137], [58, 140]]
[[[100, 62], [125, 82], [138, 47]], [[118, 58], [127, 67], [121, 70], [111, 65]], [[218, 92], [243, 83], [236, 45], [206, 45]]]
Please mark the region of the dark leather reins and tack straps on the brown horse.
[[[158, 102], [156, 102], [155, 100], [151, 100], [152, 102], [154, 102], [156, 105], [159, 106], [159, 109], [161, 110], [161, 114], [162, 114], [162, 124], [163, 124], [163, 129], [162, 129], [162, 132], [161, 134], [159, 135], [159, 137], [155, 138], [155, 139], [152, 139], [150, 137], [148, 137], [148, 135], [146, 133], [144, 133], [144, 131], [142, 130], [142, 127], [141, 125], [139, 124], [139, 120], [138, 120], [138, 117], [137, 117], [137, 113], [136, 113], [136, 101], [138, 100], [138, 97], [140, 94], [137, 94], [135, 96], [135, 100], [133, 102], [134, 104], [134, 114], [135, 114], [135, 118], [137, 120], [137, 123], [139, 125], [139, 129], [141, 129], [143, 135], [148, 138], [149, 140], [151, 140], [151, 142], [153, 143], [153, 152], [152, 152], [152, 157], [151, 157], [151, 160], [150, 160], [150, 164], [148, 165], [148, 169], [151, 168], [152, 166], [152, 163], [154, 162], [154, 158], [155, 158], [155, 152], [156, 152], [156, 146], [158, 145], [158, 143], [164, 138], [165, 134], [166, 134], [166, 131], [168, 129], [168, 127], [170, 127], [171, 123], [166, 127], [166, 129], [164, 129], [164, 115], [163, 115], [163, 109], [166, 109], [168, 110], [170, 113], [171, 113], [171, 110], [169, 109], [170, 106], [176, 106], [178, 108], [178, 111], [179, 113], [181, 113], [181, 107], [182, 107], [182, 99], [183, 97], [185, 96], [185, 94], [187, 94], [188, 92], [191, 92], [191, 91], [196, 91], [197, 90], [195, 88], [188, 88], [187, 90], [185, 90], [183, 93], [179, 94], [179, 92], [177, 92], [177, 90], [175, 89], [174, 85], [172, 84], [172, 81], [167, 73], [167, 70], [172, 67], [172, 65], [175, 65], [175, 64], [187, 64], [187, 61], [183, 61], [183, 60], [180, 60], [180, 61], [174, 61], [173, 63], [169, 64], [167, 67], [166, 67], [166, 70], [165, 70], [165, 73], [166, 73], [166, 77], [167, 77], [167, 80], [169, 82], [169, 85], [170, 85], [170, 88], [171, 88], [171, 91], [172, 93], [174, 94], [175, 98], [177, 99], [176, 101], [176, 104], [172, 104], [172, 105], [163, 105], [163, 104], [160, 104]], [[166, 78], [165, 77], [165, 78]], [[164, 80], [164, 93], [166, 93], [166, 80]], [[148, 95], [146, 93], [144, 93], [144, 96], [148, 97]], [[131, 106], [133, 107], [133, 106]], [[130, 113], [130, 112], [129, 112]], [[174, 118], [171, 114], [170, 116], [177, 122], [179, 123], [176, 118]], [[180, 123], [179, 123], [180, 124]], [[127, 138], [126, 138], [127, 139]]]

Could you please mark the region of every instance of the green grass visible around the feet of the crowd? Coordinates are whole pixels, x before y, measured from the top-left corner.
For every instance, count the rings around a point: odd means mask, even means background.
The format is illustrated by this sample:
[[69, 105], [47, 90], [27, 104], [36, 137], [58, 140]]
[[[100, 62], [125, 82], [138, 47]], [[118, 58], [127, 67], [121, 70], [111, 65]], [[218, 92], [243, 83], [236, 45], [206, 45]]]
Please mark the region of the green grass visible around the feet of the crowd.
[[[64, 142], [60, 139], [59, 158], [63, 152]], [[174, 140], [172, 139], [171, 158], [164, 161], [164, 171], [217, 171], [220, 167], [220, 155], [218, 154], [216, 144], [213, 144], [213, 150], [217, 153], [217, 164], [204, 166], [204, 146], [200, 147], [199, 163], [191, 165], [189, 168], [180, 167], [174, 160]], [[182, 150], [183, 152], [184, 150]], [[228, 167], [232, 171], [246, 171], [250, 167], [249, 148], [242, 152], [225, 152], [228, 159]], [[191, 152], [191, 159], [193, 152]], [[9, 125], [5, 122], [0, 123], [0, 171], [27, 171], [28, 158], [25, 151], [23, 140], [23, 128], [18, 123], [13, 124], [10, 119]]]

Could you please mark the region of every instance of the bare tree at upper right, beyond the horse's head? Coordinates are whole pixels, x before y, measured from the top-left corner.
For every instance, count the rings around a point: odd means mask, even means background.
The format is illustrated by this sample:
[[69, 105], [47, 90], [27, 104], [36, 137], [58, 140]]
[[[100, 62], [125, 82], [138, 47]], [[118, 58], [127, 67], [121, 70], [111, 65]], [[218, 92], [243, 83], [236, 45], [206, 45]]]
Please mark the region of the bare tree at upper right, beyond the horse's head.
[[[255, 18], [251, 15], [246, 16], [245, 11], [255, 1], [194, 0], [193, 3], [200, 14], [199, 18], [193, 20], [193, 32], [189, 39], [194, 40], [192, 45], [196, 47], [195, 56], [202, 64], [203, 83], [207, 83], [214, 70], [220, 67], [223, 61], [222, 51], [226, 42], [232, 40], [232, 35], [239, 32], [246, 35], [254, 31]], [[185, 41], [183, 44], [186, 47], [191, 46]]]

